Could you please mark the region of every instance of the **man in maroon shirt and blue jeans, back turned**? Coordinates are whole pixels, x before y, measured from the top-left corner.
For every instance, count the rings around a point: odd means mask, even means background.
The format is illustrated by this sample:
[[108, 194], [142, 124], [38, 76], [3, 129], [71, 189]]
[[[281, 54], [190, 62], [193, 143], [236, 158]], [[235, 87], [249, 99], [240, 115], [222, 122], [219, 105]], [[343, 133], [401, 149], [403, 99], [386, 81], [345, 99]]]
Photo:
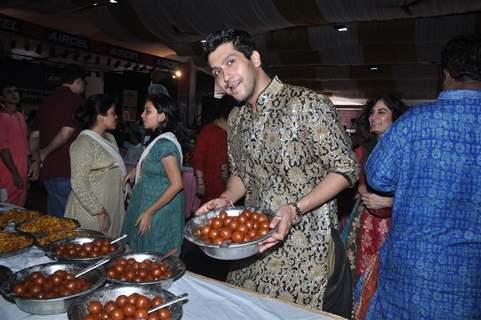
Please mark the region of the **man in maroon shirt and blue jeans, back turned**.
[[64, 215], [70, 193], [69, 148], [78, 134], [73, 113], [83, 104], [83, 78], [80, 67], [64, 68], [62, 85], [40, 105], [30, 134], [32, 158], [37, 160], [30, 169], [32, 180], [40, 177], [43, 181], [48, 193], [48, 213], [59, 217]]

